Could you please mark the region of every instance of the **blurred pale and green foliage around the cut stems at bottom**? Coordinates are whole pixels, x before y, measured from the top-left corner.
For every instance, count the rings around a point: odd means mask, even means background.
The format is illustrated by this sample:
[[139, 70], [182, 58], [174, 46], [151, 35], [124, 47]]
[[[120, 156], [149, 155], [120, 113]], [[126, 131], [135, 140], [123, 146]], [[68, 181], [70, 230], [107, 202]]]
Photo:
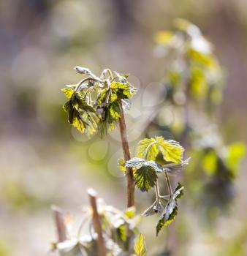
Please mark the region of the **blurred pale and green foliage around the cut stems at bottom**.
[[[145, 255], [144, 236], [137, 236], [137, 225], [140, 216], [135, 214], [135, 209], [128, 208], [119, 211], [113, 206], [107, 206], [103, 200], [98, 199], [99, 215], [102, 219], [102, 232], [107, 255]], [[96, 233], [92, 228], [92, 212], [89, 206], [83, 208], [83, 219], [77, 228], [77, 234], [68, 234], [66, 241], [55, 244], [61, 256], [69, 255], [96, 255]], [[66, 218], [64, 217], [66, 222]], [[67, 225], [72, 225], [73, 217], [69, 218]], [[88, 234], [83, 227], [89, 223]], [[68, 231], [69, 229], [67, 229]], [[82, 230], [84, 231], [82, 234]], [[54, 245], [53, 245], [54, 246]]]

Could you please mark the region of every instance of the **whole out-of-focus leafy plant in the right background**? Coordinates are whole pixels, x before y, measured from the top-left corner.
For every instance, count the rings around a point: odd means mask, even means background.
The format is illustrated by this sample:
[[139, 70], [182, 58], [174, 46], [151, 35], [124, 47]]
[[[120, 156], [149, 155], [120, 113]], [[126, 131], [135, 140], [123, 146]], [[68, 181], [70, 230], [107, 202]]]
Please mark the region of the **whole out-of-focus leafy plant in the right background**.
[[[232, 180], [238, 175], [246, 146], [240, 142], [225, 146], [212, 125], [216, 105], [221, 101], [223, 78], [213, 45], [187, 20], [177, 19], [174, 26], [174, 32], [160, 31], [155, 36], [168, 66], [163, 108], [169, 108], [175, 119], [166, 126], [161, 120], [159, 128], [174, 134], [189, 149], [193, 160], [185, 173], [185, 182], [191, 192], [196, 192], [192, 197], [201, 195], [201, 207], [208, 211], [208, 217], [213, 217], [212, 209], [225, 211], [233, 198]], [[160, 118], [158, 114], [154, 123], [159, 124]]]

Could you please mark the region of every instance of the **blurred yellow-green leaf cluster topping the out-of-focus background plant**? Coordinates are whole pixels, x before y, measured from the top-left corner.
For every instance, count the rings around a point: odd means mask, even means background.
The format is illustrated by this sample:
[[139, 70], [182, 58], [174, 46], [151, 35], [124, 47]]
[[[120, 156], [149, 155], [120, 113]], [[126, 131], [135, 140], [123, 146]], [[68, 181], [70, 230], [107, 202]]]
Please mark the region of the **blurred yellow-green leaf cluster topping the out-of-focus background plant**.
[[[159, 31], [155, 40], [167, 55], [177, 53], [170, 63], [167, 86], [172, 94], [185, 92], [194, 102], [205, 101], [208, 106], [221, 101], [223, 71], [213, 53], [213, 46], [197, 26], [188, 20], [177, 19], [175, 31]], [[180, 63], [180, 64], [178, 64]]]

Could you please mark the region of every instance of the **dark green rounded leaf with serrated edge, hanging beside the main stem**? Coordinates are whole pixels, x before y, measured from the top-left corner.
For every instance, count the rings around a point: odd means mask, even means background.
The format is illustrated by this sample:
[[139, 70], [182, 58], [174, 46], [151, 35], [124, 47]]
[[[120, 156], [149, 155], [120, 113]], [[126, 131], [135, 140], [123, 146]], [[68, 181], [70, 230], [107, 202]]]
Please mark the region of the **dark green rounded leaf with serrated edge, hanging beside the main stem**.
[[143, 165], [134, 172], [135, 184], [142, 192], [151, 189], [156, 184], [157, 178], [156, 171], [148, 165]]

